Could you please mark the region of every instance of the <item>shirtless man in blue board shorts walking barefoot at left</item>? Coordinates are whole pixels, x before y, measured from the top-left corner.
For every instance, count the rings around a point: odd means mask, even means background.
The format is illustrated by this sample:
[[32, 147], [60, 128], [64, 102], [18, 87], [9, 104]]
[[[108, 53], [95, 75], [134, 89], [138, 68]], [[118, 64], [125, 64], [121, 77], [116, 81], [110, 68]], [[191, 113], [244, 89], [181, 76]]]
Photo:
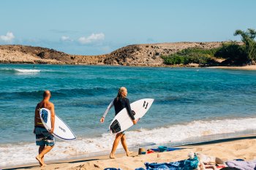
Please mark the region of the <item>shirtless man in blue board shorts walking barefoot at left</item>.
[[[39, 161], [40, 166], [46, 166], [44, 161], [44, 155], [48, 153], [55, 144], [55, 139], [53, 137], [54, 130], [54, 122], [55, 122], [55, 112], [54, 112], [54, 104], [50, 101], [50, 91], [45, 90], [43, 93], [43, 99], [41, 102], [37, 104], [34, 114], [34, 134], [36, 134], [36, 144], [39, 145], [39, 155], [37, 155], [36, 159]], [[42, 124], [39, 115], [39, 109], [46, 108], [51, 112], [50, 120], [51, 120], [51, 129], [47, 131]]]

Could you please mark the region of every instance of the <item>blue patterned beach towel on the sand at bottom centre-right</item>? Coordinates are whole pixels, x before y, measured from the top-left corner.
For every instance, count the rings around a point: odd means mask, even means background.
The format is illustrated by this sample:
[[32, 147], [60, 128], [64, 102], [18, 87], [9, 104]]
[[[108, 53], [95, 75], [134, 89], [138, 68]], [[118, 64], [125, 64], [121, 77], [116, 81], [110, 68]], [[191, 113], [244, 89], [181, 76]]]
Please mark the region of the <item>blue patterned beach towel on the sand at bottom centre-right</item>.
[[135, 170], [192, 170], [198, 166], [198, 158], [176, 161], [170, 163], [145, 163], [146, 169], [139, 168]]

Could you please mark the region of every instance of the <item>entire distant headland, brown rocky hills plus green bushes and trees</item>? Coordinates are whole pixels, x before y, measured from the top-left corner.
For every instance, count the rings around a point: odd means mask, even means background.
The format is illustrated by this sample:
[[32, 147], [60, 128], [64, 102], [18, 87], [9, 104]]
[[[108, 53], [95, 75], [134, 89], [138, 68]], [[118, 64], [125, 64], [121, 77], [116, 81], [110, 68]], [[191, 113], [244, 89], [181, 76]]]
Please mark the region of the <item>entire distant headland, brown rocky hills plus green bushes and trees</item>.
[[241, 42], [172, 42], [128, 45], [104, 55], [69, 55], [44, 47], [0, 45], [0, 63], [94, 64], [121, 66], [256, 65], [256, 31], [236, 30]]

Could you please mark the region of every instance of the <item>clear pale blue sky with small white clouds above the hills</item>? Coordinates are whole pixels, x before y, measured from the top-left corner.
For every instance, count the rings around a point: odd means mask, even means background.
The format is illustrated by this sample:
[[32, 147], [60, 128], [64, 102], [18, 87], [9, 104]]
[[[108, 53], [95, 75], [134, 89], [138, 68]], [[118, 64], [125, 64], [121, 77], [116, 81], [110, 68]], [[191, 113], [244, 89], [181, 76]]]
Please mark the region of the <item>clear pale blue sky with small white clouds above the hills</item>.
[[1, 0], [0, 45], [100, 55], [162, 42], [240, 41], [255, 0]]

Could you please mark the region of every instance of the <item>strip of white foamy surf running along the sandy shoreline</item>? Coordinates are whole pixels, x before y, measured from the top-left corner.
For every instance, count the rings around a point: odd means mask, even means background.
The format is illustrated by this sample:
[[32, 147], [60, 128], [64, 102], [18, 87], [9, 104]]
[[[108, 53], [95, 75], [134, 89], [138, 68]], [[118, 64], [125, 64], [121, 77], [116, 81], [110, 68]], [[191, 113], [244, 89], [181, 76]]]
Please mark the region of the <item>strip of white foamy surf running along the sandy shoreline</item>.
[[[193, 121], [182, 125], [170, 125], [165, 128], [140, 129], [138, 131], [127, 131], [128, 147], [138, 147], [147, 143], [173, 143], [186, 142], [191, 138], [217, 134], [239, 134], [241, 131], [256, 131], [256, 118], [243, 118], [236, 120], [211, 120]], [[56, 142], [53, 150], [45, 156], [45, 161], [69, 159], [78, 156], [86, 156], [95, 152], [110, 152], [113, 134], [102, 134], [94, 138], [78, 137], [71, 142]], [[118, 146], [121, 149], [121, 144]], [[123, 152], [123, 150], [121, 149]], [[35, 156], [38, 147], [30, 144], [1, 144], [0, 145], [0, 167], [22, 165], [24, 163], [37, 163]]]

